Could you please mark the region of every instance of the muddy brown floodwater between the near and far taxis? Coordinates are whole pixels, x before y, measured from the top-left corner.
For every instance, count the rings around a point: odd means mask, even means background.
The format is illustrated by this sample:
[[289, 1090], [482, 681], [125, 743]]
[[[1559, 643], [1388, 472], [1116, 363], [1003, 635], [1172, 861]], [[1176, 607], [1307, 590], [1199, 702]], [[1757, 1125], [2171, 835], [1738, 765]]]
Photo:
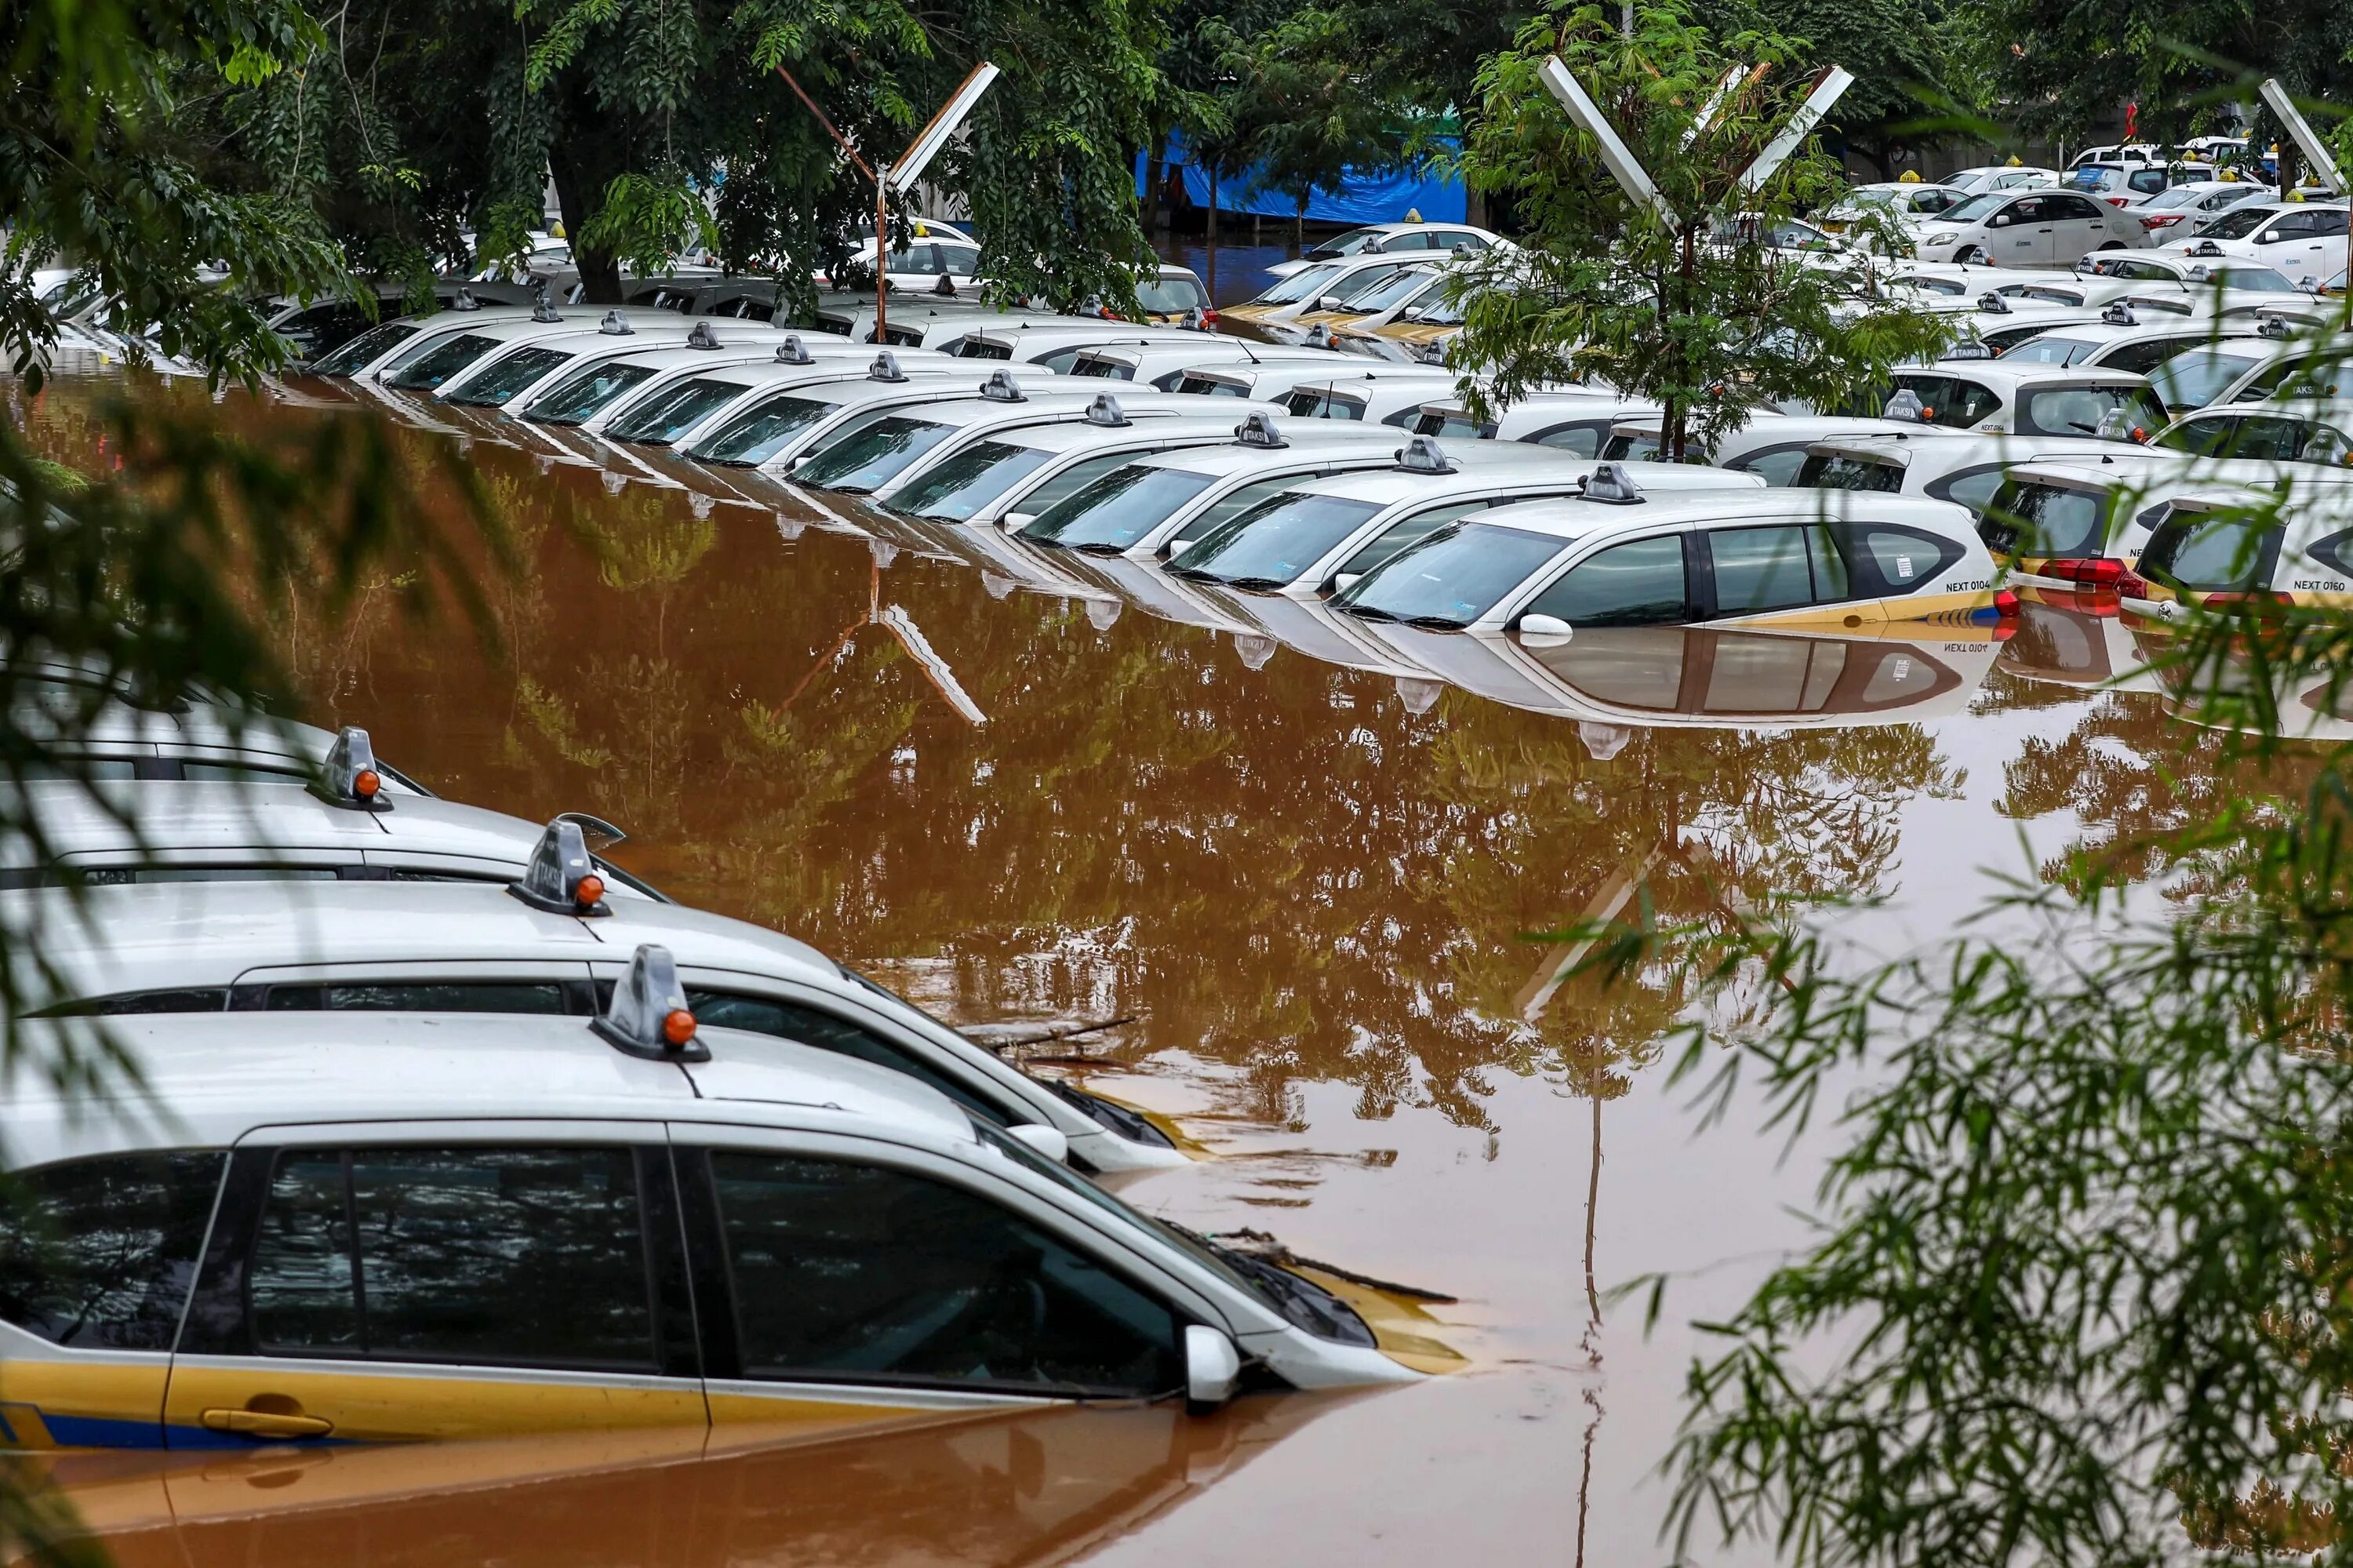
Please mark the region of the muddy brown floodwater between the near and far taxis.
[[[104, 461], [89, 396], [61, 384], [24, 414], [64, 461]], [[1068, 1071], [1167, 1111], [1205, 1158], [1125, 1196], [1459, 1295], [1435, 1333], [1471, 1366], [1209, 1417], [819, 1446], [59, 1457], [122, 1563], [1666, 1561], [1687, 1323], [1802, 1234], [1784, 1205], [1819, 1144], [1786, 1154], [1739, 1109], [1701, 1130], [1659, 1045], [1685, 998], [1562, 982], [1529, 932], [1633, 892], [1668, 918], [1880, 895], [1864, 935], [1892, 951], [1951, 930], [1984, 869], [2035, 873], [2217, 789], [2212, 737], [2155, 692], [2094, 690], [2129, 664], [2099, 605], [2031, 605], [2007, 643], [1821, 643], [1798, 671], [1680, 633], [1584, 671], [1555, 657], [1565, 690], [1621, 697], [1579, 723], [1016, 586], [948, 534], [840, 506], [713, 501], [499, 440], [471, 459], [529, 563], [494, 589], [508, 659], [369, 603], [289, 633], [308, 718], [367, 725], [461, 800], [609, 817], [668, 892], [951, 1022], [1132, 1017]], [[1607, 1293], [1649, 1271], [1673, 1288], [1645, 1337]]]

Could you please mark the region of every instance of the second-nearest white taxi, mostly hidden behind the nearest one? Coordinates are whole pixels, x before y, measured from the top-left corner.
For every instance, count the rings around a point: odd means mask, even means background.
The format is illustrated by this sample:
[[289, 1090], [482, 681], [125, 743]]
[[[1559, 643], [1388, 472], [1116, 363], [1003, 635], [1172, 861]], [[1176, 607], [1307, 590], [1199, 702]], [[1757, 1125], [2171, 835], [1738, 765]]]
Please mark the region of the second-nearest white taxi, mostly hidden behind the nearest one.
[[[558, 824], [569, 826], [569, 824]], [[1000, 1128], [1052, 1128], [1089, 1172], [1181, 1165], [1162, 1123], [1033, 1078], [816, 949], [744, 921], [621, 897], [576, 826], [506, 885], [134, 883], [12, 892], [40, 930], [49, 1012], [372, 1010], [593, 1015], [633, 946], [682, 965], [696, 1015], [908, 1074]], [[42, 994], [28, 982], [28, 994]]]

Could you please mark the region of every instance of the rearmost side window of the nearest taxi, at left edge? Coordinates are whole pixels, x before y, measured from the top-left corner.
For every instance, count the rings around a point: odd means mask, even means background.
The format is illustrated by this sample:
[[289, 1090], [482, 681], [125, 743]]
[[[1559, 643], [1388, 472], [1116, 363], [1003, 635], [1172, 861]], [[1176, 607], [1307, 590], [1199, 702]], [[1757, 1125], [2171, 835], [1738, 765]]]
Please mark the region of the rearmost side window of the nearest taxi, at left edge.
[[0, 1318], [75, 1349], [172, 1349], [224, 1154], [108, 1154], [9, 1177]]

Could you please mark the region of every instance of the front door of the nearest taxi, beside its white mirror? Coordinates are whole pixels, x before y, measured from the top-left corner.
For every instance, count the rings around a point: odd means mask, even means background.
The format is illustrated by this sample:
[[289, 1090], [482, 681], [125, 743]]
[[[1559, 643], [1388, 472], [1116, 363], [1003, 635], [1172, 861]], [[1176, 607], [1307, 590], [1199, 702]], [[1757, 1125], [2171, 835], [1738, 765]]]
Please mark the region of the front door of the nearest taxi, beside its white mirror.
[[1151, 1264], [901, 1144], [673, 1123], [713, 1427], [852, 1427], [1184, 1389], [1217, 1323]]

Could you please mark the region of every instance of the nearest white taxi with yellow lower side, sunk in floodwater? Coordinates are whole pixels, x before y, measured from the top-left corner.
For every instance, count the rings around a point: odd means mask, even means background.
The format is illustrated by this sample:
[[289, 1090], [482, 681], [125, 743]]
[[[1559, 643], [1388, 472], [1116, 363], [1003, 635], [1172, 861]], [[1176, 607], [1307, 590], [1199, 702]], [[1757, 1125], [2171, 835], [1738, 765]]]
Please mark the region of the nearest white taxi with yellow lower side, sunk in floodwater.
[[1384, 1354], [1346, 1281], [685, 1003], [640, 949], [593, 1022], [120, 1017], [141, 1083], [111, 1099], [24, 1067], [87, 1024], [24, 1024], [0, 1102], [14, 1446], [814, 1434], [1433, 1366]]

